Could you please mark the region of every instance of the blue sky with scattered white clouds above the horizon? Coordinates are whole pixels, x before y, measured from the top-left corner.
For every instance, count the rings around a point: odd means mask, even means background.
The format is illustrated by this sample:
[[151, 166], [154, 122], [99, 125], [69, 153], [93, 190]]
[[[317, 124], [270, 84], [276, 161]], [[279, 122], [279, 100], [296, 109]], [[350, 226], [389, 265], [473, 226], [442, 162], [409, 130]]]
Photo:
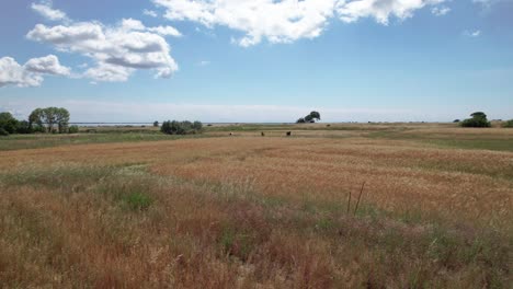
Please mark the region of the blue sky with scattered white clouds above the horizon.
[[2, 0], [0, 112], [513, 118], [513, 0]]

